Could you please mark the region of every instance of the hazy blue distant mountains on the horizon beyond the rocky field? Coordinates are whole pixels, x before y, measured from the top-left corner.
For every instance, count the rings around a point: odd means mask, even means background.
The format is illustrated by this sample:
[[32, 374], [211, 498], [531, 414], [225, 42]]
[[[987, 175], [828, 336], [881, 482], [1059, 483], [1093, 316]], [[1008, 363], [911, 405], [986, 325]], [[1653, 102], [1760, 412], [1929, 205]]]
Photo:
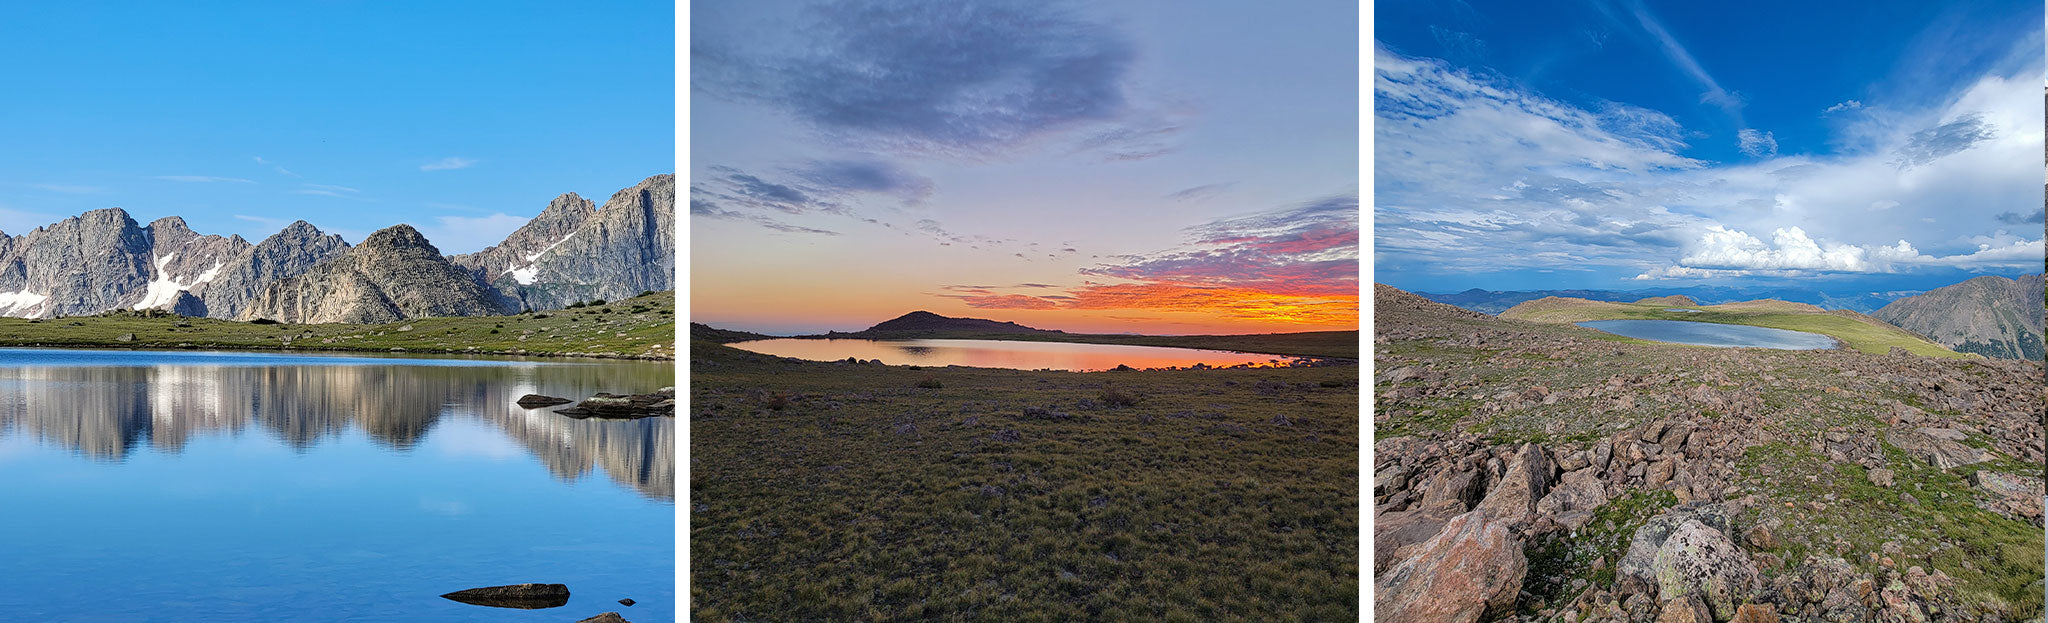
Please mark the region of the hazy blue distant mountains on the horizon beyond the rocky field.
[[1917, 295], [1919, 291], [1896, 291], [1896, 293], [1853, 293], [1835, 295], [1817, 289], [1794, 289], [1794, 287], [1653, 287], [1653, 289], [1526, 289], [1526, 291], [1487, 291], [1468, 289], [1460, 293], [1415, 293], [1419, 297], [1458, 305], [1464, 309], [1481, 314], [1501, 314], [1507, 307], [1520, 305], [1524, 301], [1534, 301], [1542, 297], [1563, 297], [1563, 299], [1587, 299], [1587, 301], [1610, 301], [1628, 303], [1649, 297], [1669, 297], [1683, 295], [1702, 305], [1735, 303], [1735, 301], [1755, 301], [1755, 299], [1780, 299], [1794, 303], [1808, 303], [1821, 309], [1851, 309], [1870, 314], [1886, 303]]

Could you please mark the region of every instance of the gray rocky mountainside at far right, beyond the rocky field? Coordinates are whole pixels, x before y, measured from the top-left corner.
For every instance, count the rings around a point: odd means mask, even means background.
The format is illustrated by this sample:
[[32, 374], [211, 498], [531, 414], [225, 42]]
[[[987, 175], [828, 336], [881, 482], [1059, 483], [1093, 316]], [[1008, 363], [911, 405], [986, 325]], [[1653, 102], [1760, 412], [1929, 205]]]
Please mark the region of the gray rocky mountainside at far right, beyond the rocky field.
[[1870, 316], [1958, 352], [2042, 359], [2042, 275], [1976, 277], [1905, 297]]

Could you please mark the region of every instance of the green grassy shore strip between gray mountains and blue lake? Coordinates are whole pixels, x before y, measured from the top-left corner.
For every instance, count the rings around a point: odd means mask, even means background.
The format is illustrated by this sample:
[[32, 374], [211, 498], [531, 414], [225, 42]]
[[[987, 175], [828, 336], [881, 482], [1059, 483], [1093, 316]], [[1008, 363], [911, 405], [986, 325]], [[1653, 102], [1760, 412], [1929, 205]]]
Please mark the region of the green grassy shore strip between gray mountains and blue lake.
[[516, 316], [414, 318], [387, 324], [281, 324], [106, 312], [78, 318], [0, 318], [0, 346], [375, 350], [674, 359], [676, 293]]

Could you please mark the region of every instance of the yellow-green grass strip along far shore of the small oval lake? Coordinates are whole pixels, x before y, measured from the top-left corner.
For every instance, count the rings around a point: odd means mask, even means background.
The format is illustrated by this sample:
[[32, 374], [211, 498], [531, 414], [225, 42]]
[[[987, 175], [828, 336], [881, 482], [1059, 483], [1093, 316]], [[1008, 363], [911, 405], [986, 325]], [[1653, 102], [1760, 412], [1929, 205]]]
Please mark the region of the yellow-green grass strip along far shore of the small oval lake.
[[[1909, 330], [1884, 324], [1855, 312], [1808, 312], [1806, 305], [1729, 303], [1729, 305], [1657, 305], [1610, 303], [1583, 299], [1538, 299], [1501, 312], [1501, 318], [1573, 324], [1587, 320], [1690, 320], [1716, 324], [1749, 324], [1796, 332], [1812, 332], [1841, 340], [1862, 352], [1890, 352], [1892, 346], [1923, 357], [1966, 359], [1970, 355], [1944, 348]], [[1665, 312], [1696, 309], [1696, 312]]]

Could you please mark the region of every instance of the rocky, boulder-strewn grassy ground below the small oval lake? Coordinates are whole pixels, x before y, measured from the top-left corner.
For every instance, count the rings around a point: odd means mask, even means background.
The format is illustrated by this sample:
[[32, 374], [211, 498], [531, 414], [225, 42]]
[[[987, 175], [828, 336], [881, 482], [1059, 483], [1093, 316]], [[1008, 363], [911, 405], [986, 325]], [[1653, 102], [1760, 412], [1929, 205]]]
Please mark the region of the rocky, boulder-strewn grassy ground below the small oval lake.
[[1378, 621], [2042, 621], [2036, 361], [1374, 305]]

